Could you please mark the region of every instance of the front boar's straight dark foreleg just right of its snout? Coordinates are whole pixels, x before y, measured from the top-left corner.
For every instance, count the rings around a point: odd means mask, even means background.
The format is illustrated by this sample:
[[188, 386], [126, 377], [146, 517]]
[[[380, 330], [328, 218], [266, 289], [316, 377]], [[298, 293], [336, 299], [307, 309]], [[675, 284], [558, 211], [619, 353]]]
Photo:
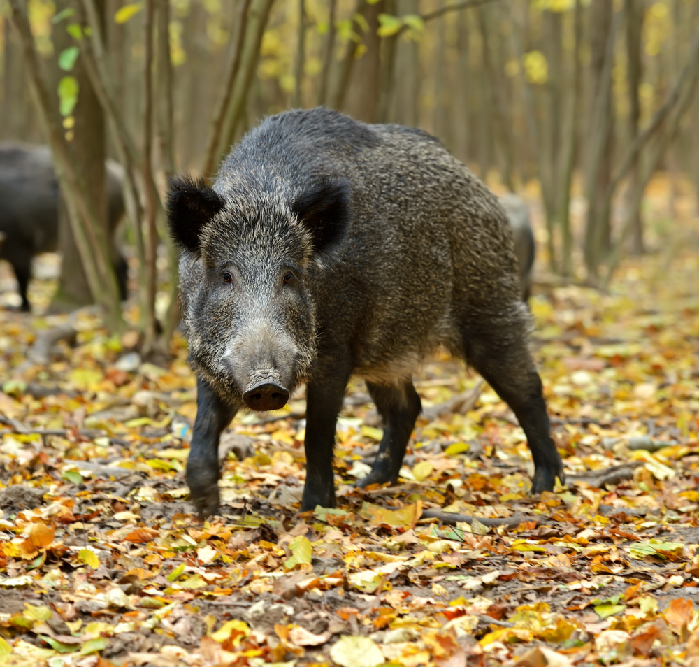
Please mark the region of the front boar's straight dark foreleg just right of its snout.
[[349, 371], [334, 378], [312, 380], [306, 387], [306, 480], [301, 512], [335, 507], [333, 447], [340, 409], [343, 407]]

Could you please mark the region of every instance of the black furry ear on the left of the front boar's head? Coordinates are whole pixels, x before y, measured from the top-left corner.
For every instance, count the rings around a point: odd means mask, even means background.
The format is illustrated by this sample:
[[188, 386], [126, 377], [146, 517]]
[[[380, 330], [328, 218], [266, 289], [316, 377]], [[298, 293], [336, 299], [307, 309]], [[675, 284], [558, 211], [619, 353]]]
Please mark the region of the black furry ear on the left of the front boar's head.
[[187, 176], [170, 181], [168, 226], [175, 243], [185, 250], [199, 252], [199, 234], [224, 207], [224, 200], [203, 180]]

